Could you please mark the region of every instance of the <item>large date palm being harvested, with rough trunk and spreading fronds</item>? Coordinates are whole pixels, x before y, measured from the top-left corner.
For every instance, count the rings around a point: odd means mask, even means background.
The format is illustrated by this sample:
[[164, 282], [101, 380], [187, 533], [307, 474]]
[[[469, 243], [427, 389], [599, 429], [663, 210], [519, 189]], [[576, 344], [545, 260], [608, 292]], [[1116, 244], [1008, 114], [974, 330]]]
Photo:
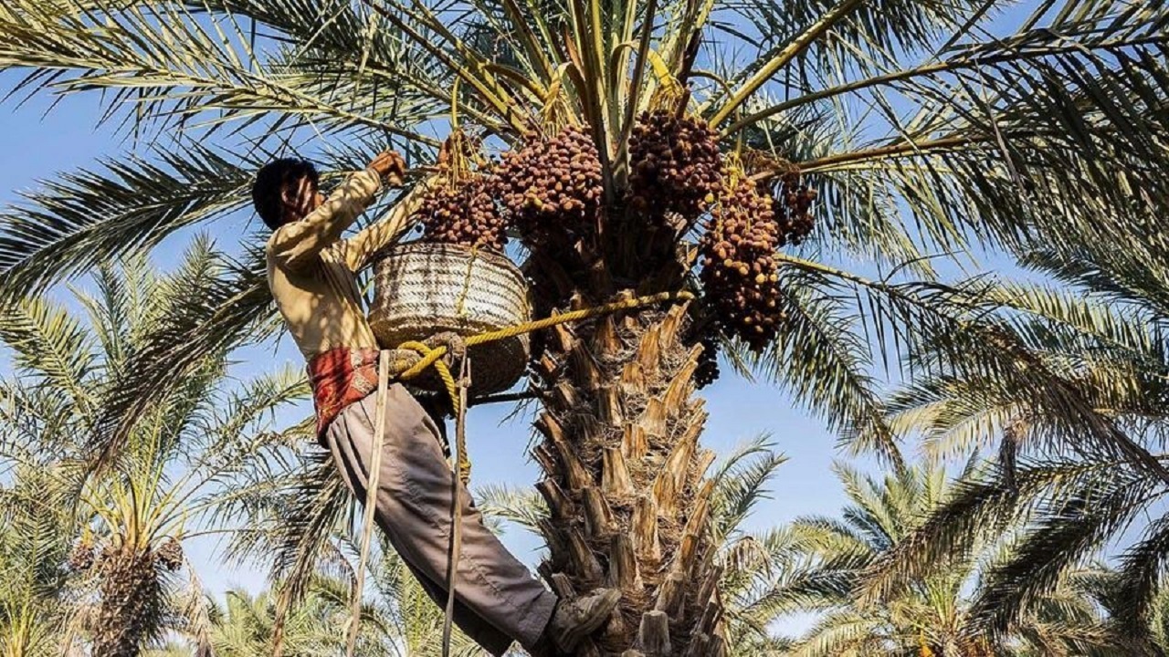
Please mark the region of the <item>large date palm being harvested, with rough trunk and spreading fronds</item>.
[[[646, 161], [634, 161], [630, 144], [644, 111], [708, 123], [742, 194], [807, 200], [804, 184], [821, 192], [815, 230], [798, 250], [770, 254], [775, 281], [760, 283], [775, 285], [775, 307], [761, 318], [775, 339], [726, 338], [732, 317], [717, 317], [718, 331], [704, 325], [713, 297], [649, 309], [542, 337], [532, 387], [544, 406], [535, 458], [551, 510], [541, 572], [561, 593], [609, 585], [625, 594], [621, 617], [582, 651], [719, 655], [713, 486], [703, 483], [711, 455], [698, 447], [705, 412], [693, 381], [700, 339], [710, 348], [721, 336], [733, 362], [893, 461], [870, 371], [886, 350], [977, 355], [1038, 406], [1087, 413], [1074, 390], [997, 346], [980, 321], [991, 290], [938, 283], [932, 258], [961, 258], [974, 243], [1022, 253], [1093, 234], [1116, 242], [1150, 208], [1164, 214], [1167, 9], [1047, 0], [1030, 14], [1002, 11], [1011, 7], [16, 0], [0, 8], [0, 65], [26, 72], [20, 90], [109, 91], [110, 116], [126, 119], [150, 157], [63, 174], [12, 208], [0, 236], [4, 286], [36, 290], [229, 214], [256, 158], [306, 133], [320, 139], [332, 177], [387, 139], [433, 158], [448, 117], [517, 150], [554, 126], [579, 126], [596, 151], [602, 212], [572, 236], [587, 238], [535, 244], [527, 261], [544, 310], [696, 286], [699, 217], [650, 212], [671, 198], [660, 189], [648, 202], [624, 200]], [[738, 207], [711, 198], [719, 216]], [[255, 263], [199, 302], [188, 323], [141, 352], [103, 426], [117, 426], [126, 407], [148, 408], [152, 390], [194, 372], [200, 354], [270, 334]], [[112, 458], [126, 427], [103, 436]], [[1169, 478], [1106, 427], [1088, 440]]]

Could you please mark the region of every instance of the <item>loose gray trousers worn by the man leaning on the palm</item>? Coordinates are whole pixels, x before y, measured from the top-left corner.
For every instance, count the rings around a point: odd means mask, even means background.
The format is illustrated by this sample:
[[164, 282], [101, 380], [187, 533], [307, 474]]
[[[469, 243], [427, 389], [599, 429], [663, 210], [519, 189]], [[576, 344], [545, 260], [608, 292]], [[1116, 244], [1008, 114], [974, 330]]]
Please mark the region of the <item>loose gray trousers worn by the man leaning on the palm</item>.
[[[346, 485], [362, 503], [374, 444], [376, 393], [347, 406], [325, 443]], [[392, 385], [378, 509], [374, 517], [394, 549], [440, 606], [447, 604], [454, 473], [443, 458], [438, 427], [401, 385]], [[455, 623], [492, 655], [518, 641], [531, 648], [552, 617], [556, 596], [535, 580], [483, 525], [463, 491], [462, 554], [455, 585]]]

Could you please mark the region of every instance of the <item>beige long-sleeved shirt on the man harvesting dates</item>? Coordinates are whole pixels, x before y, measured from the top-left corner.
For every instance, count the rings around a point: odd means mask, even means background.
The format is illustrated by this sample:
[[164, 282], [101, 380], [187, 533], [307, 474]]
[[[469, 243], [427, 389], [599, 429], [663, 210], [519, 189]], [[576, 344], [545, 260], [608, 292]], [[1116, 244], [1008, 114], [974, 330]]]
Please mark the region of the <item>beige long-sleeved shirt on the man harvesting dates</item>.
[[407, 227], [419, 189], [381, 221], [341, 240], [381, 191], [378, 174], [361, 171], [350, 175], [309, 216], [272, 233], [264, 251], [268, 288], [305, 359], [337, 347], [378, 347], [366, 321], [357, 272]]

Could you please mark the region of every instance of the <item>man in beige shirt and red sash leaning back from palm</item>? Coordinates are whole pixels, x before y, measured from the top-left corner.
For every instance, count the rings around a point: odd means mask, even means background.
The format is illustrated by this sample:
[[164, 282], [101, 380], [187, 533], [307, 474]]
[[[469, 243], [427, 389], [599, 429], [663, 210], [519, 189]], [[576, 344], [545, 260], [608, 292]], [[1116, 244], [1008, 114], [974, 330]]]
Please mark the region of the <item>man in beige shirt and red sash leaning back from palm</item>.
[[[318, 438], [360, 500], [366, 498], [374, 444], [378, 343], [354, 276], [408, 227], [420, 189], [353, 238], [343, 240], [341, 234], [383, 186], [400, 186], [402, 175], [401, 157], [382, 153], [326, 200], [311, 164], [282, 159], [264, 166], [253, 187], [256, 212], [272, 229], [265, 250], [268, 285], [309, 361]], [[447, 597], [454, 476], [437, 424], [406, 388], [393, 385], [375, 518], [440, 604]], [[534, 655], [569, 652], [610, 616], [617, 592], [558, 601], [483, 525], [470, 496], [464, 493], [459, 503], [463, 546], [455, 622], [484, 649], [500, 656], [518, 641]]]

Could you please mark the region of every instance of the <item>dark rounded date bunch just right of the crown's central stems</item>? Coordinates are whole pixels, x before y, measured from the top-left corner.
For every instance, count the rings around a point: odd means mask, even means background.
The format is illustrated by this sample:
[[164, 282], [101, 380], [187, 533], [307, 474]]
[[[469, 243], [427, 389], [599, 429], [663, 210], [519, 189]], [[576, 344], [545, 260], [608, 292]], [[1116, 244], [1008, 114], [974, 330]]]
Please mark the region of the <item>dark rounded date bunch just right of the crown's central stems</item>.
[[634, 212], [651, 217], [675, 213], [692, 226], [721, 191], [718, 133], [705, 120], [672, 106], [638, 117], [629, 139], [627, 202]]

